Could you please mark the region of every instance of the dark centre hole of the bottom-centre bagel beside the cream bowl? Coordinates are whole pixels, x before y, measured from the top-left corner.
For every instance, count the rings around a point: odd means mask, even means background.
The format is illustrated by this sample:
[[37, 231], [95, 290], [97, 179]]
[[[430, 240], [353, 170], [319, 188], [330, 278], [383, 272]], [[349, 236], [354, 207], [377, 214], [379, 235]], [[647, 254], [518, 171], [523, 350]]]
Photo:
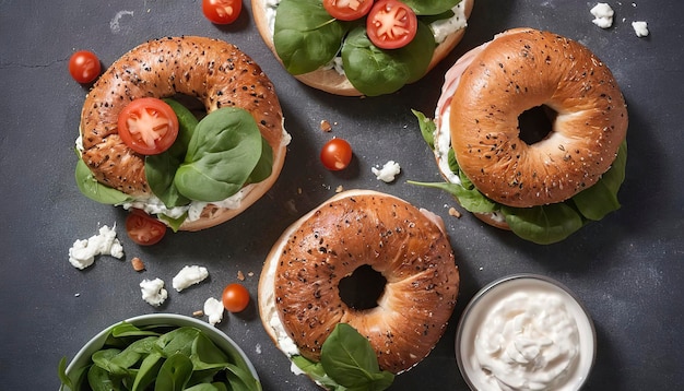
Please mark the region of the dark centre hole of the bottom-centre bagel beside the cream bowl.
[[387, 284], [387, 279], [365, 264], [340, 280], [338, 288], [342, 301], [347, 307], [361, 311], [378, 306], [378, 299], [385, 292], [385, 284]]

